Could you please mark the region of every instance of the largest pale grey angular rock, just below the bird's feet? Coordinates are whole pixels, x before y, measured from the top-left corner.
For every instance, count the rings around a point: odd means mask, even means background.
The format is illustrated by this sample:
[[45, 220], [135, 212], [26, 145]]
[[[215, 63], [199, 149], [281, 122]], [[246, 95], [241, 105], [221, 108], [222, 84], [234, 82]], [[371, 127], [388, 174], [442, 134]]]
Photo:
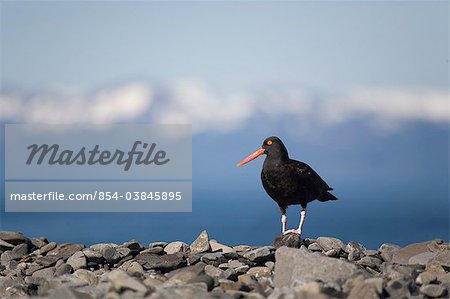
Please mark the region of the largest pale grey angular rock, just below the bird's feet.
[[277, 250], [275, 259], [275, 287], [291, 286], [295, 281], [344, 282], [353, 275], [368, 275], [348, 261], [311, 253], [304, 247], [300, 249], [281, 247]]

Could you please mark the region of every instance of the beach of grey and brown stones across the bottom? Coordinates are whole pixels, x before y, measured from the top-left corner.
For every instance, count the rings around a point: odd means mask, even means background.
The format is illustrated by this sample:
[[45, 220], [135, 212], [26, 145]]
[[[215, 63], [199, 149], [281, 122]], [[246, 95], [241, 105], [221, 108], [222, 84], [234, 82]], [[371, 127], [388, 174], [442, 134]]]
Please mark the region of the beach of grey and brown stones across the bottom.
[[2, 298], [449, 298], [449, 244], [365, 248], [331, 237], [278, 236], [227, 246], [203, 231], [191, 244], [56, 244], [0, 232]]

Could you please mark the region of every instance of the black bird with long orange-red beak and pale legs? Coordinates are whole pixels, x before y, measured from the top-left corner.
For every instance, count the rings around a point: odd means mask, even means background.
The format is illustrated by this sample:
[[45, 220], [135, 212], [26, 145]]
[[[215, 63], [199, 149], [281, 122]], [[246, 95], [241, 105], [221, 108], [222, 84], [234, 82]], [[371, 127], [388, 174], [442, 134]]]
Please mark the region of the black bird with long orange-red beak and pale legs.
[[[308, 164], [289, 158], [280, 138], [268, 137], [260, 149], [239, 162], [240, 167], [265, 154], [261, 181], [267, 194], [278, 204], [281, 212], [282, 234], [302, 234], [306, 219], [306, 207], [313, 200], [337, 200], [333, 190]], [[286, 209], [301, 205], [300, 223], [297, 229], [286, 230]]]

